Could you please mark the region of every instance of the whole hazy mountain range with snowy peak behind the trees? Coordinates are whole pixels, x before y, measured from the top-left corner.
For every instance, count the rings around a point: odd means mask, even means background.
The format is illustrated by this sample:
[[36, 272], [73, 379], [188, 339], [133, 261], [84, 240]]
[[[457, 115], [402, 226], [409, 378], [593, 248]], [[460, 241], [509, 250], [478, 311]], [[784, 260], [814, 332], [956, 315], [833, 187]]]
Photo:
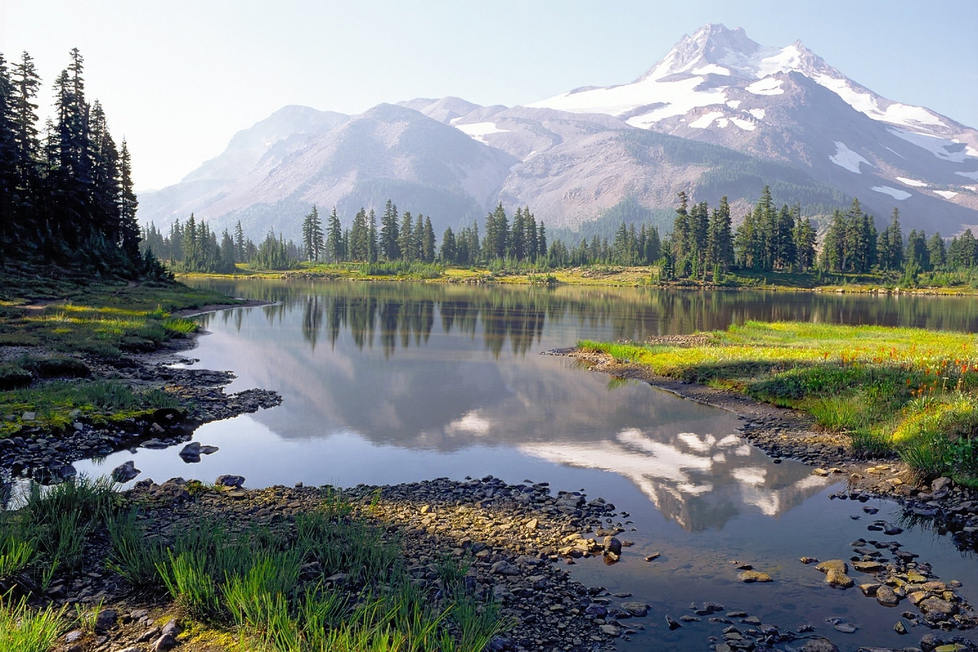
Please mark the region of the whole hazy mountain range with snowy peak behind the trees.
[[527, 107], [286, 107], [140, 196], [139, 216], [165, 226], [194, 211], [216, 228], [241, 219], [253, 237], [292, 236], [312, 203], [348, 221], [390, 197], [439, 232], [498, 201], [576, 227], [626, 204], [671, 209], [679, 191], [727, 195], [739, 211], [765, 183], [808, 207], [858, 196], [880, 223], [898, 206], [907, 228], [950, 236], [978, 225], [978, 131], [882, 98], [799, 42], [768, 48], [706, 25], [631, 84]]

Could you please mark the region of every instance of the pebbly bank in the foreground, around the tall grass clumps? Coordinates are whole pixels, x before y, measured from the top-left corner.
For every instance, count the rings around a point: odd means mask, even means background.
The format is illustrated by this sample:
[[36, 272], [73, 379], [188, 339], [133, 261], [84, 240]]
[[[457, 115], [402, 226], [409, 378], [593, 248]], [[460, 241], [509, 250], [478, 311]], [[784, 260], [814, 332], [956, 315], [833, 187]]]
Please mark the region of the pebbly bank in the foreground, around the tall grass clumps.
[[[124, 495], [141, 506], [140, 519], [152, 524], [153, 536], [169, 540], [187, 523], [210, 517], [237, 531], [268, 526], [288, 537], [296, 516], [321, 508], [336, 492], [301, 484], [245, 490], [244, 478], [219, 480], [207, 486], [182, 478], [161, 484], [146, 479]], [[492, 476], [359, 485], [340, 495], [351, 502], [356, 518], [378, 526], [401, 546], [406, 570], [433, 596], [441, 587], [439, 559], [454, 557], [467, 566], [467, 588], [481, 600], [500, 604], [508, 623], [489, 650], [603, 652], [614, 649], [616, 637], [644, 629], [641, 619], [648, 605], [627, 594], [584, 587], [556, 565], [593, 556], [613, 563], [629, 546], [617, 538], [625, 527], [614, 505], [602, 499], [588, 500], [579, 492], [552, 495], [545, 482], [508, 485]], [[100, 559], [106, 552], [103, 545], [89, 556]], [[206, 641], [214, 632], [190, 627], [162, 596], [133, 590], [100, 564], [87, 570], [70, 583], [56, 580], [48, 597], [55, 605], [102, 604], [109, 615], [94, 633], [69, 632], [64, 652], [165, 650], [166, 645], [157, 644], [164, 627], [173, 634], [171, 647], [224, 649], [209, 647]], [[344, 578], [339, 574], [326, 582], [342, 585]]]

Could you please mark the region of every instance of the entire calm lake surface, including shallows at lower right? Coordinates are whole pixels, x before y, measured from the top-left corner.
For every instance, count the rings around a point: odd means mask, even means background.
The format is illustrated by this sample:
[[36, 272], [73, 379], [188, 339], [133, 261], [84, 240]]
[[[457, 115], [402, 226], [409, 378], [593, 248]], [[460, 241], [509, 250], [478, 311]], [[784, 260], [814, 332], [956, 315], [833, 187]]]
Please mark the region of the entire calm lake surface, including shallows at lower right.
[[[205, 369], [233, 369], [229, 391], [263, 387], [282, 406], [201, 426], [220, 447], [186, 464], [178, 448], [122, 452], [79, 462], [106, 473], [127, 459], [141, 478], [212, 480], [244, 475], [273, 484], [393, 484], [488, 474], [587, 491], [631, 513], [623, 560], [568, 567], [582, 582], [634, 593], [653, 605], [645, 631], [623, 650], [705, 650], [719, 628], [670, 632], [664, 615], [718, 601], [765, 622], [804, 623], [843, 650], [903, 647], [900, 611], [857, 589], [831, 590], [803, 555], [848, 557], [867, 532], [860, 503], [828, 500], [841, 488], [811, 467], [775, 464], [736, 435], [731, 413], [643, 383], [615, 380], [540, 352], [578, 339], [643, 339], [720, 328], [748, 319], [976, 330], [978, 307], [957, 297], [538, 288], [421, 283], [200, 281], [278, 305], [200, 317], [209, 334], [190, 355]], [[872, 518], [895, 519], [877, 501]], [[908, 530], [896, 538], [972, 601], [978, 567], [944, 538]], [[661, 552], [654, 562], [643, 557]], [[731, 560], [771, 573], [769, 585], [735, 581]], [[855, 634], [832, 630], [843, 617]]]

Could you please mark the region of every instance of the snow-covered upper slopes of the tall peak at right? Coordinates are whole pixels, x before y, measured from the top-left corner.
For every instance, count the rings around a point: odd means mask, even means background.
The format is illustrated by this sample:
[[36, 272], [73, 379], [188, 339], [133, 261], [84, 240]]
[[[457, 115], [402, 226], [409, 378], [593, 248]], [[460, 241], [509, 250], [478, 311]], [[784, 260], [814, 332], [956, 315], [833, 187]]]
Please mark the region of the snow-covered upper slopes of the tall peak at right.
[[976, 223], [978, 131], [873, 93], [799, 41], [765, 47], [742, 28], [708, 24], [631, 84], [575, 89], [529, 106], [605, 113], [784, 160], [877, 213], [889, 203], [926, 215], [931, 231]]

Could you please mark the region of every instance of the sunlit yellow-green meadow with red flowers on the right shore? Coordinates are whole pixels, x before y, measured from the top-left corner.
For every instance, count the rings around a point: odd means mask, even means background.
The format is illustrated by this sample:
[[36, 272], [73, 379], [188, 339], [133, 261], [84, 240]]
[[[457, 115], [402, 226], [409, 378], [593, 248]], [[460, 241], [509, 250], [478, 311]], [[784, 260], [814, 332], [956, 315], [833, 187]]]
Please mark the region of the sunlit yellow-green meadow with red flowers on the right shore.
[[658, 375], [811, 413], [860, 454], [897, 453], [921, 479], [978, 486], [978, 339], [886, 326], [747, 322], [702, 345], [579, 342]]

